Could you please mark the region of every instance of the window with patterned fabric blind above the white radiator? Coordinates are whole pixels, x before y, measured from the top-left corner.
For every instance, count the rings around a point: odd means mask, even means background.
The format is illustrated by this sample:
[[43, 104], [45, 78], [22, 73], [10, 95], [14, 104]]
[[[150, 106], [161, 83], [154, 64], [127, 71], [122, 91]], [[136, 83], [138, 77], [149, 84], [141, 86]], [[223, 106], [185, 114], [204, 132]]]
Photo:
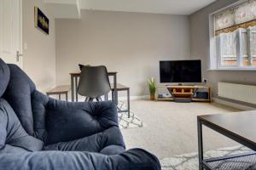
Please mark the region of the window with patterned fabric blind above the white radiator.
[[243, 0], [211, 17], [212, 69], [256, 69], [256, 0]]

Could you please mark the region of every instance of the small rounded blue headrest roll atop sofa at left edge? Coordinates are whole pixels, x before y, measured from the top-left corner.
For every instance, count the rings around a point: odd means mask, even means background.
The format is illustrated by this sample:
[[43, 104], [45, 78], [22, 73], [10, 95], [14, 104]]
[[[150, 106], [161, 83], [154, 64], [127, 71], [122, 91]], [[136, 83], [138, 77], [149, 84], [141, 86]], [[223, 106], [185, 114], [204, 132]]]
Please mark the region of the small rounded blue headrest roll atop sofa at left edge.
[[9, 66], [0, 58], [0, 97], [8, 86], [9, 75]]

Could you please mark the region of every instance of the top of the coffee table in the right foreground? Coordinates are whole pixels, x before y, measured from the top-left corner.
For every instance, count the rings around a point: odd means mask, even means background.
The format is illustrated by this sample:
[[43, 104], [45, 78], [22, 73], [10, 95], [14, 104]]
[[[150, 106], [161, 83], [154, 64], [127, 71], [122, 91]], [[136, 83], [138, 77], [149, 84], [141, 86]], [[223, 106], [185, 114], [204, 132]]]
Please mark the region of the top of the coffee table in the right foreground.
[[256, 111], [198, 116], [198, 119], [214, 127], [217, 132], [228, 133], [240, 141], [252, 144], [252, 150], [256, 148]]

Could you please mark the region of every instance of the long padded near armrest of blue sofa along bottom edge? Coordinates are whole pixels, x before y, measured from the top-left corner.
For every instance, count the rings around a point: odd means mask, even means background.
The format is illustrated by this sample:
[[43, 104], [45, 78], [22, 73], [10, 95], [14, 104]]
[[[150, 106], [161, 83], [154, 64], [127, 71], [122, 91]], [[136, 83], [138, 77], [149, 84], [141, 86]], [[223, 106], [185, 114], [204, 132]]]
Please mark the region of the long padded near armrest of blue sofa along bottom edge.
[[2, 152], [0, 167], [5, 170], [160, 170], [160, 162], [152, 154], [140, 149], [113, 156], [78, 151], [21, 151], [13, 154]]

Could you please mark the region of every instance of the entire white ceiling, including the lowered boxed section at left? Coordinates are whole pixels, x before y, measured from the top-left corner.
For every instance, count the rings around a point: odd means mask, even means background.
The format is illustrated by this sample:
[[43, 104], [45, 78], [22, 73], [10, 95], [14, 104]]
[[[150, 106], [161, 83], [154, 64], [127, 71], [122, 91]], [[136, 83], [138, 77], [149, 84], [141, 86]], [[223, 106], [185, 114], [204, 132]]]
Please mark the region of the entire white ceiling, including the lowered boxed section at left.
[[55, 18], [79, 19], [81, 9], [193, 14], [216, 0], [44, 0]]

